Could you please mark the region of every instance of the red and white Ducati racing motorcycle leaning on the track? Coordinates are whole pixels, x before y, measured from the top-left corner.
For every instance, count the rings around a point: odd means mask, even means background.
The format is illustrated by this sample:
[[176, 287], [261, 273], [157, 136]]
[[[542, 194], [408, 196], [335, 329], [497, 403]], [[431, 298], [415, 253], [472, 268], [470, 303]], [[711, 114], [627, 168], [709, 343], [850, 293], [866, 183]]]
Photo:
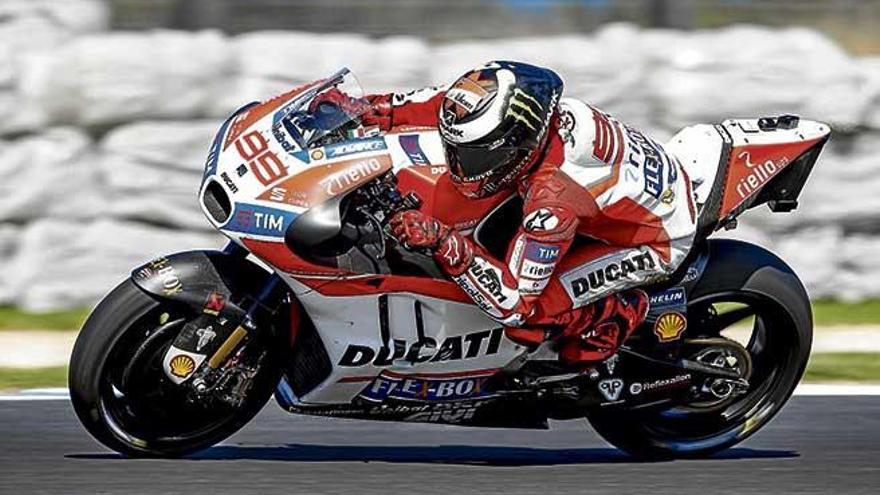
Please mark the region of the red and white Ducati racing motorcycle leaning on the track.
[[[351, 105], [321, 98], [328, 91]], [[185, 455], [274, 394], [289, 412], [339, 418], [505, 428], [586, 418], [634, 456], [695, 457], [742, 441], [786, 403], [812, 341], [804, 287], [769, 251], [709, 237], [749, 208], [795, 208], [826, 125], [785, 115], [712, 127], [721, 152], [691, 255], [646, 288], [648, 318], [619, 352], [574, 372], [552, 342], [509, 340], [387, 230], [395, 212], [420, 208], [503, 258], [521, 200], [449, 209], [465, 203], [436, 129], [365, 127], [359, 95], [342, 70], [222, 125], [199, 202], [230, 242], [135, 268], [77, 339], [71, 399], [97, 440], [131, 456]], [[559, 269], [575, 292], [620, 272]]]

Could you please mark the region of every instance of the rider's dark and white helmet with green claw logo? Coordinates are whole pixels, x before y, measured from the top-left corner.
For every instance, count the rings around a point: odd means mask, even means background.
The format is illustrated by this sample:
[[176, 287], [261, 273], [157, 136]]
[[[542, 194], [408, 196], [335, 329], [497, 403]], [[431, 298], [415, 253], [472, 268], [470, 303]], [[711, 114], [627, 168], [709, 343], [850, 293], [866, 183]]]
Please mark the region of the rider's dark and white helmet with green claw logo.
[[440, 108], [452, 181], [465, 196], [492, 195], [527, 173], [547, 144], [562, 79], [549, 70], [496, 61], [461, 76]]

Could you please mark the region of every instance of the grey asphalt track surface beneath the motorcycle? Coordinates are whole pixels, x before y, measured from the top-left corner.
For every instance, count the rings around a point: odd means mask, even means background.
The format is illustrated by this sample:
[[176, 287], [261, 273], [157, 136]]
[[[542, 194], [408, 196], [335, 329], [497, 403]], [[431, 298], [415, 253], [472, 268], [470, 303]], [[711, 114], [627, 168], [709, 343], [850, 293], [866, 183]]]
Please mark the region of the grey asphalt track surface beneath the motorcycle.
[[795, 397], [713, 459], [637, 463], [583, 422], [488, 430], [291, 416], [188, 459], [123, 459], [67, 401], [0, 403], [0, 493], [878, 493], [880, 397]]

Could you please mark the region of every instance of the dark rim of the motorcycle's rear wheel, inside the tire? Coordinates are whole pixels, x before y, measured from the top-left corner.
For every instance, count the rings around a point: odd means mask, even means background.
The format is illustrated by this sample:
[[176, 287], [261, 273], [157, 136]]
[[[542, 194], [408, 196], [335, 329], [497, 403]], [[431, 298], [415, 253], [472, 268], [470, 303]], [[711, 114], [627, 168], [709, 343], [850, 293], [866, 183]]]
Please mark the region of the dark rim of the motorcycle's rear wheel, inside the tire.
[[[717, 311], [722, 303], [739, 304]], [[715, 312], [713, 314], [713, 308]], [[724, 337], [731, 326], [752, 318], [746, 349], [752, 361], [748, 391], [721, 410], [674, 407], [645, 411], [639, 423], [660, 447], [688, 452], [741, 440], [763, 426], [794, 389], [802, 371], [800, 339], [792, 316], [775, 300], [756, 293], [712, 294], [692, 301], [688, 316], [695, 317], [691, 336]], [[695, 333], [691, 333], [696, 331]]]

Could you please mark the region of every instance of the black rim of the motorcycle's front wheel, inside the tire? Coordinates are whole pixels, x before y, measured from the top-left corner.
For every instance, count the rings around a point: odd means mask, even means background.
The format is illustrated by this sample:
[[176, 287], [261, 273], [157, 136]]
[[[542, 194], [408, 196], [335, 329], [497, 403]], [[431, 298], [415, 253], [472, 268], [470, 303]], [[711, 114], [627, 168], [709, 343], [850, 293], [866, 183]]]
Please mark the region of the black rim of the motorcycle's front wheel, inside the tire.
[[236, 410], [224, 404], [187, 400], [188, 389], [165, 376], [162, 357], [188, 317], [168, 307], [147, 312], [121, 333], [102, 367], [98, 411], [134, 448], [190, 447], [235, 419]]

